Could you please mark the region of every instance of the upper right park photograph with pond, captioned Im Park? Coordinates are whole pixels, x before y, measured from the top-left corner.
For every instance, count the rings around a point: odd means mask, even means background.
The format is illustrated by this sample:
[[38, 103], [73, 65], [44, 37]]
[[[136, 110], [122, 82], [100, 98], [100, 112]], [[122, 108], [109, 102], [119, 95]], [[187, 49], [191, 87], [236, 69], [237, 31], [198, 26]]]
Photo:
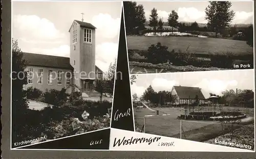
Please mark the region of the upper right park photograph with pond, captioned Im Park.
[[253, 2], [124, 1], [131, 74], [253, 69]]

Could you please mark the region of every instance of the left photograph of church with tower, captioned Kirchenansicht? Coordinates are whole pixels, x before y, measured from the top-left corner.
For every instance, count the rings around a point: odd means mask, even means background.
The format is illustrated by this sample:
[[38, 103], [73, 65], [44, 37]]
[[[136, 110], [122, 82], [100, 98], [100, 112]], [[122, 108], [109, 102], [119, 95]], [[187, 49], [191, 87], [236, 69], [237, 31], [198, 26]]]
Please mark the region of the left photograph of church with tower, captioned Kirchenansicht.
[[11, 148], [110, 127], [121, 5], [12, 2]]

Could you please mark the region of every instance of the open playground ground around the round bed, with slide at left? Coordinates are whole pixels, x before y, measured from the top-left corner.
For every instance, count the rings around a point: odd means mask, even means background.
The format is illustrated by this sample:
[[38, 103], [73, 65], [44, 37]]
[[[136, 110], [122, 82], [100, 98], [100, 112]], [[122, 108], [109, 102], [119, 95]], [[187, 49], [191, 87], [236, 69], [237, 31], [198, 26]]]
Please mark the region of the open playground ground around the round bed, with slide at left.
[[[138, 106], [139, 105], [139, 106]], [[179, 118], [189, 114], [192, 109], [187, 105], [183, 107], [152, 108], [145, 103], [134, 104], [134, 116], [136, 131], [166, 137], [205, 142], [210, 139], [230, 133], [230, 131], [242, 128], [254, 123], [254, 109], [239, 107], [221, 107], [223, 112], [241, 112], [246, 115], [239, 122], [223, 122], [208, 120], [189, 120]], [[195, 108], [196, 112], [209, 111], [208, 106]], [[219, 112], [217, 108], [211, 111]], [[251, 132], [254, 135], [254, 132]]]

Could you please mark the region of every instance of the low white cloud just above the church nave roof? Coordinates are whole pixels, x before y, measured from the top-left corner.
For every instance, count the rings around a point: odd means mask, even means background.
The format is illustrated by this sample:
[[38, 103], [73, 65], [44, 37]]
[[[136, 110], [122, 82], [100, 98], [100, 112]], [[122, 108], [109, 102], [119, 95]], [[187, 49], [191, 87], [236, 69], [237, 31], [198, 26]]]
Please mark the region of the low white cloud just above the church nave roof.
[[44, 55], [52, 55], [52, 56], [60, 56], [60, 57], [69, 57], [70, 56], [70, 46], [69, 45], [61, 45], [59, 47], [54, 48], [31, 48], [29, 52], [35, 54], [44, 54]]

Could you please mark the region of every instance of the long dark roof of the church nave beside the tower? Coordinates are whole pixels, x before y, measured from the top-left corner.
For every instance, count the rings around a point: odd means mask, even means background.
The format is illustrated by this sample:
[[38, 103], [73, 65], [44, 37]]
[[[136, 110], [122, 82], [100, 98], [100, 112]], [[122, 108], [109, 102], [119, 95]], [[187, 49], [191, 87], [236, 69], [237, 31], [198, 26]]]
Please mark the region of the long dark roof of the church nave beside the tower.
[[[73, 67], [70, 65], [70, 58], [66, 57], [23, 52], [23, 59], [28, 62], [28, 65], [32, 66], [44, 66], [73, 70]], [[95, 69], [101, 71], [101, 69], [99, 69], [97, 66], [95, 66]]]

